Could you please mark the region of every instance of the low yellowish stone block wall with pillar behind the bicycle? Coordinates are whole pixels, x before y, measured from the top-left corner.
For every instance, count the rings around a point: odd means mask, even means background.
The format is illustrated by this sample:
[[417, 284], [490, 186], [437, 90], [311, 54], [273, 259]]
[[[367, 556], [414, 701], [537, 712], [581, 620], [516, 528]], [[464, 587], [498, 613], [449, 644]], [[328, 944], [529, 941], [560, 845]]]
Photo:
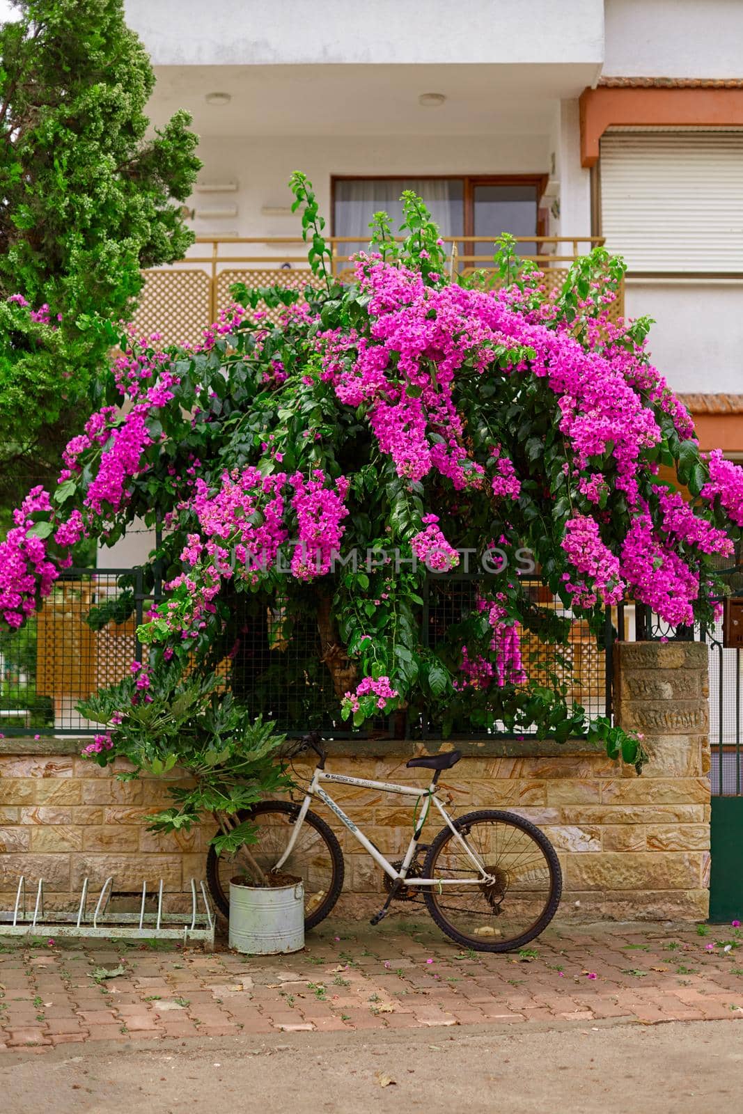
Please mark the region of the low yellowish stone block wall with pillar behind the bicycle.
[[[583, 741], [487, 741], [457, 743], [465, 758], [440, 784], [456, 813], [506, 808], [544, 828], [563, 866], [561, 917], [702, 920], [710, 869], [707, 651], [691, 643], [620, 643], [615, 652], [617, 716], [645, 733], [651, 755], [642, 776]], [[69, 906], [86, 874], [91, 883], [114, 874], [124, 890], [163, 878], [170, 893], [204, 876], [211, 830], [167, 837], [146, 831], [147, 813], [168, 802], [168, 781], [118, 782], [80, 759], [80, 745], [0, 744], [4, 909], [12, 907], [21, 873], [45, 878], [49, 906]], [[349, 743], [330, 744], [329, 766], [360, 778], [427, 782], [424, 771], [404, 765], [412, 753], [426, 752], [423, 744], [353, 745], [351, 758]], [[429, 752], [439, 745], [454, 744], [429, 744]], [[342, 784], [331, 790], [382, 851], [401, 854], [412, 814], [401, 798]], [[322, 805], [319, 811], [327, 813]], [[327, 819], [338, 831], [335, 818]], [[341, 911], [365, 912], [379, 905], [381, 871], [346, 830], [339, 837], [346, 856]]]

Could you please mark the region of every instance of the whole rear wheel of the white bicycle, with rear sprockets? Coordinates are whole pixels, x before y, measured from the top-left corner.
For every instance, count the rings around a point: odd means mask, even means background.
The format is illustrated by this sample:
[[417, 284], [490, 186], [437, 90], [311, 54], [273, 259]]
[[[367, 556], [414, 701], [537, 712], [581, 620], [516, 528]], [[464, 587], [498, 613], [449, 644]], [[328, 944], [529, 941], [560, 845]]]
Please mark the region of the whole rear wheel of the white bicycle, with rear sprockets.
[[524, 947], [544, 931], [559, 905], [563, 876], [555, 848], [512, 812], [482, 809], [453, 823], [492, 880], [477, 881], [479, 871], [467, 850], [444, 828], [423, 866], [423, 876], [433, 879], [423, 890], [431, 917], [452, 940], [476, 951]]

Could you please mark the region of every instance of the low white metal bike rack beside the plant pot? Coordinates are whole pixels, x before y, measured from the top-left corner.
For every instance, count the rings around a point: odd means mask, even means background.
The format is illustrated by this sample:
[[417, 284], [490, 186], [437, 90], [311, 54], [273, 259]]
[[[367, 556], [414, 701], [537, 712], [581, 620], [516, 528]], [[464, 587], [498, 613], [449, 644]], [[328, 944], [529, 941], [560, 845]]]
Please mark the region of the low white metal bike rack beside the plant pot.
[[[77, 912], [43, 911], [43, 879], [36, 886], [33, 913], [27, 912], [26, 879], [18, 880], [16, 906], [12, 912], [0, 912], [0, 936], [69, 936], [69, 937], [120, 937], [128, 940], [180, 940], [183, 944], [203, 941], [214, 947], [214, 913], [206, 893], [206, 887], [190, 880], [190, 917], [185, 912], [163, 911], [163, 879], [150, 900], [157, 897], [156, 910], [147, 910], [147, 882], [141, 883], [141, 897], [136, 896], [138, 911], [109, 912], [111, 898], [135, 897], [117, 893], [114, 878], [107, 878], [100, 888], [98, 900], [92, 905], [89, 898], [89, 879], [82, 882]], [[32, 891], [31, 891], [32, 892]], [[203, 907], [199, 909], [199, 905]]]

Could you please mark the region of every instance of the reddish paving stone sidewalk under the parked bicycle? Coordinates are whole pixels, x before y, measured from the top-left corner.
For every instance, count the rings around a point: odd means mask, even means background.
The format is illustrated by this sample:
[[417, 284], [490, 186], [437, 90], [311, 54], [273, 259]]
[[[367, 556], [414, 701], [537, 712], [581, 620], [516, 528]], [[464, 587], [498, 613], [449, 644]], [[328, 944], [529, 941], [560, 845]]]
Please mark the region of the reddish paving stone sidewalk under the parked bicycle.
[[266, 958], [224, 944], [0, 938], [0, 1049], [599, 1018], [743, 1018], [740, 928], [565, 927], [504, 956], [418, 920], [336, 922], [304, 951]]

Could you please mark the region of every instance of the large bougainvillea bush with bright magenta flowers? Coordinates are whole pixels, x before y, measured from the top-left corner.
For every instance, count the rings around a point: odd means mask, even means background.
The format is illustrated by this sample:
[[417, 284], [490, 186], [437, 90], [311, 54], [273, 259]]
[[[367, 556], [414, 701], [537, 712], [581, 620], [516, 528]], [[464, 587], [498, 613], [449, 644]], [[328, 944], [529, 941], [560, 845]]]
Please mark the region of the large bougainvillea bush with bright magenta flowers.
[[[148, 685], [241, 659], [235, 698], [271, 716], [266, 671], [244, 653], [262, 643], [299, 706], [320, 687], [338, 726], [394, 714], [412, 735], [426, 717], [444, 732], [585, 730], [557, 678], [529, 675], [525, 638], [559, 647], [570, 619], [535, 602], [519, 550], [596, 634], [623, 598], [669, 624], [707, 619], [723, 590], [715, 567], [743, 526], [743, 469], [700, 453], [649, 363], [648, 322], [609, 320], [623, 267], [603, 250], [551, 293], [508, 240], [496, 284], [452, 276], [407, 194], [404, 242], [379, 214], [369, 253], [341, 282], [311, 185], [296, 174], [292, 187], [310, 244], [306, 297], [236, 289], [193, 350], [125, 339], [57, 489], [35, 489], [17, 511], [0, 613], [20, 625], [81, 536], [113, 543], [140, 516], [162, 530], [146, 582], [165, 585], [140, 628]], [[461, 570], [466, 551], [490, 575], [427, 646], [424, 577]], [[133, 609], [125, 592], [97, 622]], [[310, 628], [312, 661], [296, 653]], [[101, 762], [133, 700], [146, 702], [147, 686], [84, 705], [114, 727]], [[642, 759], [639, 740], [607, 721], [594, 731], [610, 753]]]

